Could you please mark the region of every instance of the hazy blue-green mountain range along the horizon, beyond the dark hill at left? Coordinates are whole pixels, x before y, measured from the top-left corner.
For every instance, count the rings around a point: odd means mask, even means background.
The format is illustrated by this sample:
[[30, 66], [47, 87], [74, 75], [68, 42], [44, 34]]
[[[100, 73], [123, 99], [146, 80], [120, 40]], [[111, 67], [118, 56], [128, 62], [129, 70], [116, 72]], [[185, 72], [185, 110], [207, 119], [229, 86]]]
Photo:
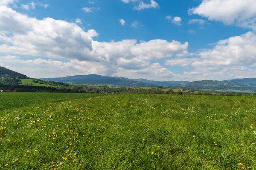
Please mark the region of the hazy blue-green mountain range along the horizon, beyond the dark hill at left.
[[101, 84], [123, 87], [155, 87], [184, 88], [195, 90], [256, 92], [256, 78], [231, 79], [224, 81], [202, 80], [188, 81], [153, 81], [147, 79], [128, 79], [125, 77], [107, 77], [96, 74], [70, 76], [61, 78], [43, 78], [42, 80], [66, 82], [70, 84]]

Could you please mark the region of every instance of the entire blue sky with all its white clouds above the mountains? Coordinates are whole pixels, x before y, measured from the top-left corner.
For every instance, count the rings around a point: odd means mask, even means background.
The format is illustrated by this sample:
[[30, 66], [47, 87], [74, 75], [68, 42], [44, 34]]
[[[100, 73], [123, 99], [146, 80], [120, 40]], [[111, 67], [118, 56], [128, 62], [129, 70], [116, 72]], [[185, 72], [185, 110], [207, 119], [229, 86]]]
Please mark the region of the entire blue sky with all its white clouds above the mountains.
[[29, 77], [255, 77], [254, 0], [0, 0], [0, 66]]

